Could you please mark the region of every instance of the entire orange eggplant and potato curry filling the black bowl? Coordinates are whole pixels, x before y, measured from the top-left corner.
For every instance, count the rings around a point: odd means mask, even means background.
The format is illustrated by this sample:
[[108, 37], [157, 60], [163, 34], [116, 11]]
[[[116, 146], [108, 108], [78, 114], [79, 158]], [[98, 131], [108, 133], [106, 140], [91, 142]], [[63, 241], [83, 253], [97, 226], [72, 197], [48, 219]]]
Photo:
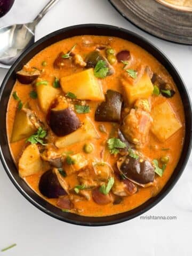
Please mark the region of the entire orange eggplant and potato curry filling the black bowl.
[[7, 137], [19, 175], [61, 211], [100, 217], [157, 195], [185, 137], [167, 70], [129, 41], [76, 36], [17, 73]]

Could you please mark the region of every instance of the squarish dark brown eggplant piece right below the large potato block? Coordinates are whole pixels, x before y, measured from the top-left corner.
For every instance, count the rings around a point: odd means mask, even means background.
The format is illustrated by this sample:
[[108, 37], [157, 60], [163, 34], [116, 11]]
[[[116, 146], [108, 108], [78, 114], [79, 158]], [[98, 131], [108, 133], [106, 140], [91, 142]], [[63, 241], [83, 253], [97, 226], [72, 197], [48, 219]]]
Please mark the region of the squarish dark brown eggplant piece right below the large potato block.
[[107, 90], [106, 101], [103, 101], [95, 111], [95, 121], [100, 122], [119, 122], [123, 97], [121, 93]]

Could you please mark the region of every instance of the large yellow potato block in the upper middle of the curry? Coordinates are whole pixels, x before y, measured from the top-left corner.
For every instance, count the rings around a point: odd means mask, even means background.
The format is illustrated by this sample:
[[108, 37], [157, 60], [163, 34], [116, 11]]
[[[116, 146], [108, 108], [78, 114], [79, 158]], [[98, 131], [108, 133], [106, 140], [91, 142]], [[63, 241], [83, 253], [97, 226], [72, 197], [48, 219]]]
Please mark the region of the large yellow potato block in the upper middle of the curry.
[[104, 100], [101, 85], [94, 76], [93, 68], [61, 78], [62, 90], [72, 92], [80, 100]]

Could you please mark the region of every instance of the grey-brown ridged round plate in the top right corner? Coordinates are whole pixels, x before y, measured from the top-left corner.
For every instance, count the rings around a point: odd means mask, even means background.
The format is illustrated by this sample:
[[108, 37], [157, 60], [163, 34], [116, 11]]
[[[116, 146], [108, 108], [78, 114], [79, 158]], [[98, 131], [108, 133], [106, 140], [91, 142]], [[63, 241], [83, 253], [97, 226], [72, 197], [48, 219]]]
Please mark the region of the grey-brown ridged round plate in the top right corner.
[[109, 0], [134, 25], [165, 40], [192, 45], [192, 12], [156, 0]]

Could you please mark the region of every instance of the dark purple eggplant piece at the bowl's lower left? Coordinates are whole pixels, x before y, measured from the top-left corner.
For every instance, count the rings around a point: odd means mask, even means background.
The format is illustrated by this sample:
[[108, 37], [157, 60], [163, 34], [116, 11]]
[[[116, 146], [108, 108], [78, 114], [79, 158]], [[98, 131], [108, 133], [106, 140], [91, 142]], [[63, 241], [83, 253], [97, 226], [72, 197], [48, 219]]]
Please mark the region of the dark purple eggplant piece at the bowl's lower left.
[[57, 175], [52, 171], [46, 171], [39, 180], [39, 191], [48, 198], [58, 198], [67, 195], [61, 187]]

